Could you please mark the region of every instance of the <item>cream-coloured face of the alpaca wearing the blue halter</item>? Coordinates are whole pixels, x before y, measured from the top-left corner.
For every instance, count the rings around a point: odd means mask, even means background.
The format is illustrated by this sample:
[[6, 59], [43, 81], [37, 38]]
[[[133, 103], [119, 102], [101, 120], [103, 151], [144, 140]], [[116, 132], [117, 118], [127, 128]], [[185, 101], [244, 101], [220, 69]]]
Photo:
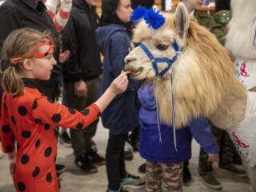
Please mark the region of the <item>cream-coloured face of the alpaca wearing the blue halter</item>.
[[[168, 35], [167, 35], [168, 34]], [[151, 33], [151, 38], [143, 39], [142, 42], [135, 42], [136, 44], [143, 43], [154, 58], [168, 58], [172, 59], [175, 55], [175, 50], [172, 45], [174, 42], [174, 32], [170, 29], [162, 31], [162, 33]], [[126, 59], [126, 70], [131, 70], [130, 74], [132, 78], [152, 79], [155, 77], [155, 71], [152, 66], [152, 61], [144, 50], [140, 46], [137, 46], [134, 50], [127, 55]], [[158, 62], [159, 73], [164, 70], [167, 66], [166, 62]], [[174, 66], [174, 64], [173, 64]], [[170, 70], [164, 75], [165, 77], [170, 76]]]

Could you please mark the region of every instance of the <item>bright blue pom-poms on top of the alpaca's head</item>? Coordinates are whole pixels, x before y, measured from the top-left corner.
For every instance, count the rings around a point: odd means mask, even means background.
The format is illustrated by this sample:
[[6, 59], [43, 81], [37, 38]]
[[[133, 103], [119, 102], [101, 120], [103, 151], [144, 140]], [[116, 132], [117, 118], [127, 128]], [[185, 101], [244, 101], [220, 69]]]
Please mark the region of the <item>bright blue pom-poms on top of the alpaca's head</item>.
[[142, 18], [144, 18], [146, 24], [154, 30], [158, 30], [166, 22], [166, 18], [160, 14], [160, 10], [156, 8], [147, 10], [146, 7], [138, 6], [130, 16], [130, 19], [132, 22], [138, 23]]

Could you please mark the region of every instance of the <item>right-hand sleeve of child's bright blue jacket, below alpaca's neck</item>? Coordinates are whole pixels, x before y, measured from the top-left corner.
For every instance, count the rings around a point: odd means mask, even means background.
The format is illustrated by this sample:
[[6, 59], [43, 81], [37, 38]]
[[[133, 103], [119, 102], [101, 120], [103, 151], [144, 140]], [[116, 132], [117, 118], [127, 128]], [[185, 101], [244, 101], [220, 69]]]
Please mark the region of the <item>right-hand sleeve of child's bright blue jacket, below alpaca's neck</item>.
[[211, 133], [210, 124], [205, 117], [201, 116], [193, 119], [190, 122], [189, 128], [192, 136], [207, 154], [218, 154], [218, 144]]

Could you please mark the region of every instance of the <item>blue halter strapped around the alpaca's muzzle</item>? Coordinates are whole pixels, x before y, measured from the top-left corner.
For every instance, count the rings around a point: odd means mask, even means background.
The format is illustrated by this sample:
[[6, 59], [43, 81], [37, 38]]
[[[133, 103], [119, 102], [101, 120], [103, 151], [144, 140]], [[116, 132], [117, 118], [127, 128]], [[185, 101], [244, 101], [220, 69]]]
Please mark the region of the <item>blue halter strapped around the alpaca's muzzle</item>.
[[[175, 39], [174, 39], [174, 42], [173, 42], [173, 47], [174, 47], [174, 50], [175, 50], [176, 54], [174, 55], [174, 57], [172, 59], [169, 59], [169, 58], [154, 58], [153, 54], [151, 54], [150, 50], [148, 50], [143, 43], [141, 43], [139, 46], [142, 48], [142, 50], [144, 50], [147, 57], [150, 58], [150, 60], [152, 61], [152, 66], [154, 68], [155, 75], [160, 76], [160, 77], [162, 77], [162, 75], [166, 74], [166, 72], [170, 69], [170, 67], [176, 61], [176, 59], [178, 58], [179, 51], [183, 51], [182, 48], [179, 49], [178, 44], [177, 44]], [[162, 70], [160, 73], [158, 71], [158, 65], [157, 65], [158, 62], [166, 62], [168, 64], [168, 66], [166, 66], [166, 69]]]

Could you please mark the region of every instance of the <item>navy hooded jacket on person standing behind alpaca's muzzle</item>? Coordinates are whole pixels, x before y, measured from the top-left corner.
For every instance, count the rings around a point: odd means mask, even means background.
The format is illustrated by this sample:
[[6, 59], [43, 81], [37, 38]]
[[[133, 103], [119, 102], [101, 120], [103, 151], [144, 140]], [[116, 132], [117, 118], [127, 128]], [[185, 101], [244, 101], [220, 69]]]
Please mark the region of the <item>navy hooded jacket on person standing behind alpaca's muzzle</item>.
[[[102, 82], [99, 94], [110, 86], [122, 70], [124, 58], [129, 54], [130, 37], [123, 26], [102, 26], [96, 30], [96, 40], [104, 55]], [[138, 127], [139, 102], [138, 81], [129, 79], [126, 92], [118, 94], [102, 113], [102, 124], [110, 129], [110, 134], [126, 134]]]

